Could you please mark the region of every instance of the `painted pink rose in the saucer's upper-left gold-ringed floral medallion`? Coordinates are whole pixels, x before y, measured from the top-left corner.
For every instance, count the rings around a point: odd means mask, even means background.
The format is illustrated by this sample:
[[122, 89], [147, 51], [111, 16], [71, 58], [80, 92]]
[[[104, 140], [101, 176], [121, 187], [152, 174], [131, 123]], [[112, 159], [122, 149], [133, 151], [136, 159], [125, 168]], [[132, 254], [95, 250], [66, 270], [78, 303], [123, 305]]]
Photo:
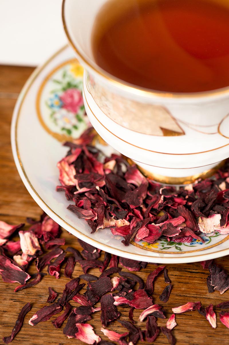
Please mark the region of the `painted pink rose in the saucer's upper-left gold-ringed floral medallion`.
[[63, 102], [63, 108], [74, 113], [77, 113], [79, 111], [79, 107], [84, 104], [82, 94], [77, 89], [68, 89], [64, 91], [60, 99]]

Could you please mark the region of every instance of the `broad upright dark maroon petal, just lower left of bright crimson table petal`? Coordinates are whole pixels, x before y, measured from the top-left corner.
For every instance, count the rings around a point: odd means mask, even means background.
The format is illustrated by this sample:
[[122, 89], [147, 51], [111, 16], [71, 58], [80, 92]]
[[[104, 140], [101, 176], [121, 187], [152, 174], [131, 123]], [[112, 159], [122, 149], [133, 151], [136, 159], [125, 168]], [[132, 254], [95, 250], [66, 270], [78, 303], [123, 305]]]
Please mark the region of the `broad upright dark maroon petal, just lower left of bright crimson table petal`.
[[121, 314], [114, 305], [112, 294], [103, 295], [100, 299], [101, 303], [101, 323], [106, 327], [111, 321], [117, 319]]

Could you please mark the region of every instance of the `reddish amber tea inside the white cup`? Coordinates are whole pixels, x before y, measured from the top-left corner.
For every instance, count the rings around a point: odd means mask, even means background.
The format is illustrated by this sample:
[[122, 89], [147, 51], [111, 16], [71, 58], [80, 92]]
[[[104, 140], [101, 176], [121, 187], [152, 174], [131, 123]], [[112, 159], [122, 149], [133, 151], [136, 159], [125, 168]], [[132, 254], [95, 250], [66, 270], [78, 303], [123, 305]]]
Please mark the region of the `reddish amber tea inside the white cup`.
[[168, 92], [229, 86], [229, 0], [110, 0], [92, 31], [96, 63]]

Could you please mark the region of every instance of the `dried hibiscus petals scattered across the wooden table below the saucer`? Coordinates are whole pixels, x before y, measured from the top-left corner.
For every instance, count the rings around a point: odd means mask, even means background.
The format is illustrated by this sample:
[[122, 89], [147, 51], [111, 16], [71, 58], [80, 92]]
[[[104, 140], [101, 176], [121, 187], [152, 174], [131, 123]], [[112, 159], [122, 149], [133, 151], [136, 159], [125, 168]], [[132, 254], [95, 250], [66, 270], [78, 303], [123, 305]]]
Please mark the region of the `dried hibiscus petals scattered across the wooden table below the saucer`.
[[[185, 305], [172, 308], [171, 314], [166, 322], [166, 327], [157, 325], [157, 318], [165, 319], [163, 306], [153, 304], [153, 282], [160, 272], [164, 272], [165, 283], [167, 284], [160, 295], [160, 300], [166, 303], [171, 292], [171, 281], [167, 275], [165, 266], [158, 266], [151, 272], [146, 282], [134, 273], [123, 272], [122, 267], [129, 271], [140, 271], [147, 263], [117, 257], [105, 253], [103, 260], [99, 260], [101, 251], [82, 240], [78, 240], [83, 248], [81, 253], [73, 247], [67, 247], [64, 251], [61, 246], [65, 244], [65, 239], [59, 238], [60, 228], [50, 217], [43, 214], [39, 221], [27, 219], [31, 227], [22, 230], [24, 224], [11, 226], [0, 221], [0, 274], [2, 279], [8, 283], [18, 282], [20, 285], [14, 292], [32, 287], [38, 284], [46, 275], [43, 269], [47, 267], [47, 273], [55, 278], [60, 277], [60, 270], [63, 264], [64, 275], [70, 280], [65, 285], [62, 295], [56, 300], [57, 293], [50, 287], [47, 298], [47, 305], [37, 310], [29, 320], [29, 324], [34, 326], [39, 322], [50, 319], [51, 316], [60, 313], [64, 308], [64, 313], [57, 316], [52, 324], [60, 328], [67, 319], [63, 327], [63, 333], [68, 338], [76, 338], [87, 344], [112, 345], [109, 341], [114, 341], [120, 345], [134, 345], [139, 340], [154, 342], [159, 333], [163, 333], [170, 344], [175, 344], [176, 339], [172, 329], [176, 326], [175, 314], [198, 310], [206, 317], [213, 328], [216, 328], [216, 314], [213, 305], [204, 308], [200, 302], [189, 302]], [[20, 236], [19, 240], [14, 240], [14, 236]], [[12, 238], [13, 237], [13, 238]], [[44, 253], [45, 252], [45, 253]], [[67, 253], [70, 253], [66, 256]], [[53, 259], [55, 259], [53, 261]], [[31, 277], [27, 268], [35, 262], [37, 273]], [[75, 264], [81, 266], [84, 274], [72, 278]], [[119, 264], [119, 265], [118, 265]], [[107, 268], [109, 265], [109, 268]], [[209, 269], [210, 275], [207, 278], [209, 292], [219, 290], [224, 293], [229, 288], [229, 276], [222, 268], [212, 264], [212, 260], [202, 262], [204, 269]], [[122, 267], [120, 267], [122, 266]], [[88, 273], [90, 268], [98, 268], [99, 275]], [[112, 277], [111, 277], [112, 276]], [[80, 294], [80, 290], [87, 282], [86, 292]], [[136, 287], [137, 285], [137, 287]], [[80, 306], [73, 308], [69, 303], [71, 300]], [[100, 306], [95, 306], [100, 302]], [[129, 320], [122, 320], [118, 310], [119, 305], [128, 305]], [[229, 301], [217, 306], [221, 309], [229, 308]], [[142, 309], [139, 321], [146, 323], [143, 327], [135, 326], [133, 319], [134, 309]], [[27, 303], [22, 309], [15, 323], [10, 336], [3, 337], [5, 344], [10, 343], [20, 331], [25, 315], [30, 312], [31, 304]], [[94, 332], [93, 327], [88, 323], [92, 314], [100, 312], [101, 332], [109, 341], [101, 340]], [[229, 312], [221, 312], [220, 321], [229, 328]], [[116, 320], [127, 329], [122, 334], [107, 329], [107, 326]]]

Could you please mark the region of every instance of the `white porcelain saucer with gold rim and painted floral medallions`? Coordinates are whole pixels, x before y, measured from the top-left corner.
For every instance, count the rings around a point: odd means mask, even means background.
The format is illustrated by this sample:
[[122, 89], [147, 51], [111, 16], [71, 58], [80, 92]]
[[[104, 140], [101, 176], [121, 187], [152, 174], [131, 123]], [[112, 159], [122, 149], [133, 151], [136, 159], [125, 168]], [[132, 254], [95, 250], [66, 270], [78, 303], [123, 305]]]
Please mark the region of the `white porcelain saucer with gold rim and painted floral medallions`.
[[[36, 203], [59, 225], [74, 236], [119, 256], [154, 263], [187, 263], [229, 254], [229, 235], [203, 235], [203, 242], [192, 238], [155, 244], [141, 241], [125, 247], [110, 229], [90, 234], [85, 220], [67, 210], [69, 201], [56, 192], [59, 185], [57, 162], [67, 152], [61, 142], [78, 137], [89, 125], [82, 103], [83, 68], [69, 47], [56, 52], [37, 68], [23, 87], [16, 103], [11, 145], [15, 164], [25, 187]], [[105, 154], [114, 150], [98, 140]]]

